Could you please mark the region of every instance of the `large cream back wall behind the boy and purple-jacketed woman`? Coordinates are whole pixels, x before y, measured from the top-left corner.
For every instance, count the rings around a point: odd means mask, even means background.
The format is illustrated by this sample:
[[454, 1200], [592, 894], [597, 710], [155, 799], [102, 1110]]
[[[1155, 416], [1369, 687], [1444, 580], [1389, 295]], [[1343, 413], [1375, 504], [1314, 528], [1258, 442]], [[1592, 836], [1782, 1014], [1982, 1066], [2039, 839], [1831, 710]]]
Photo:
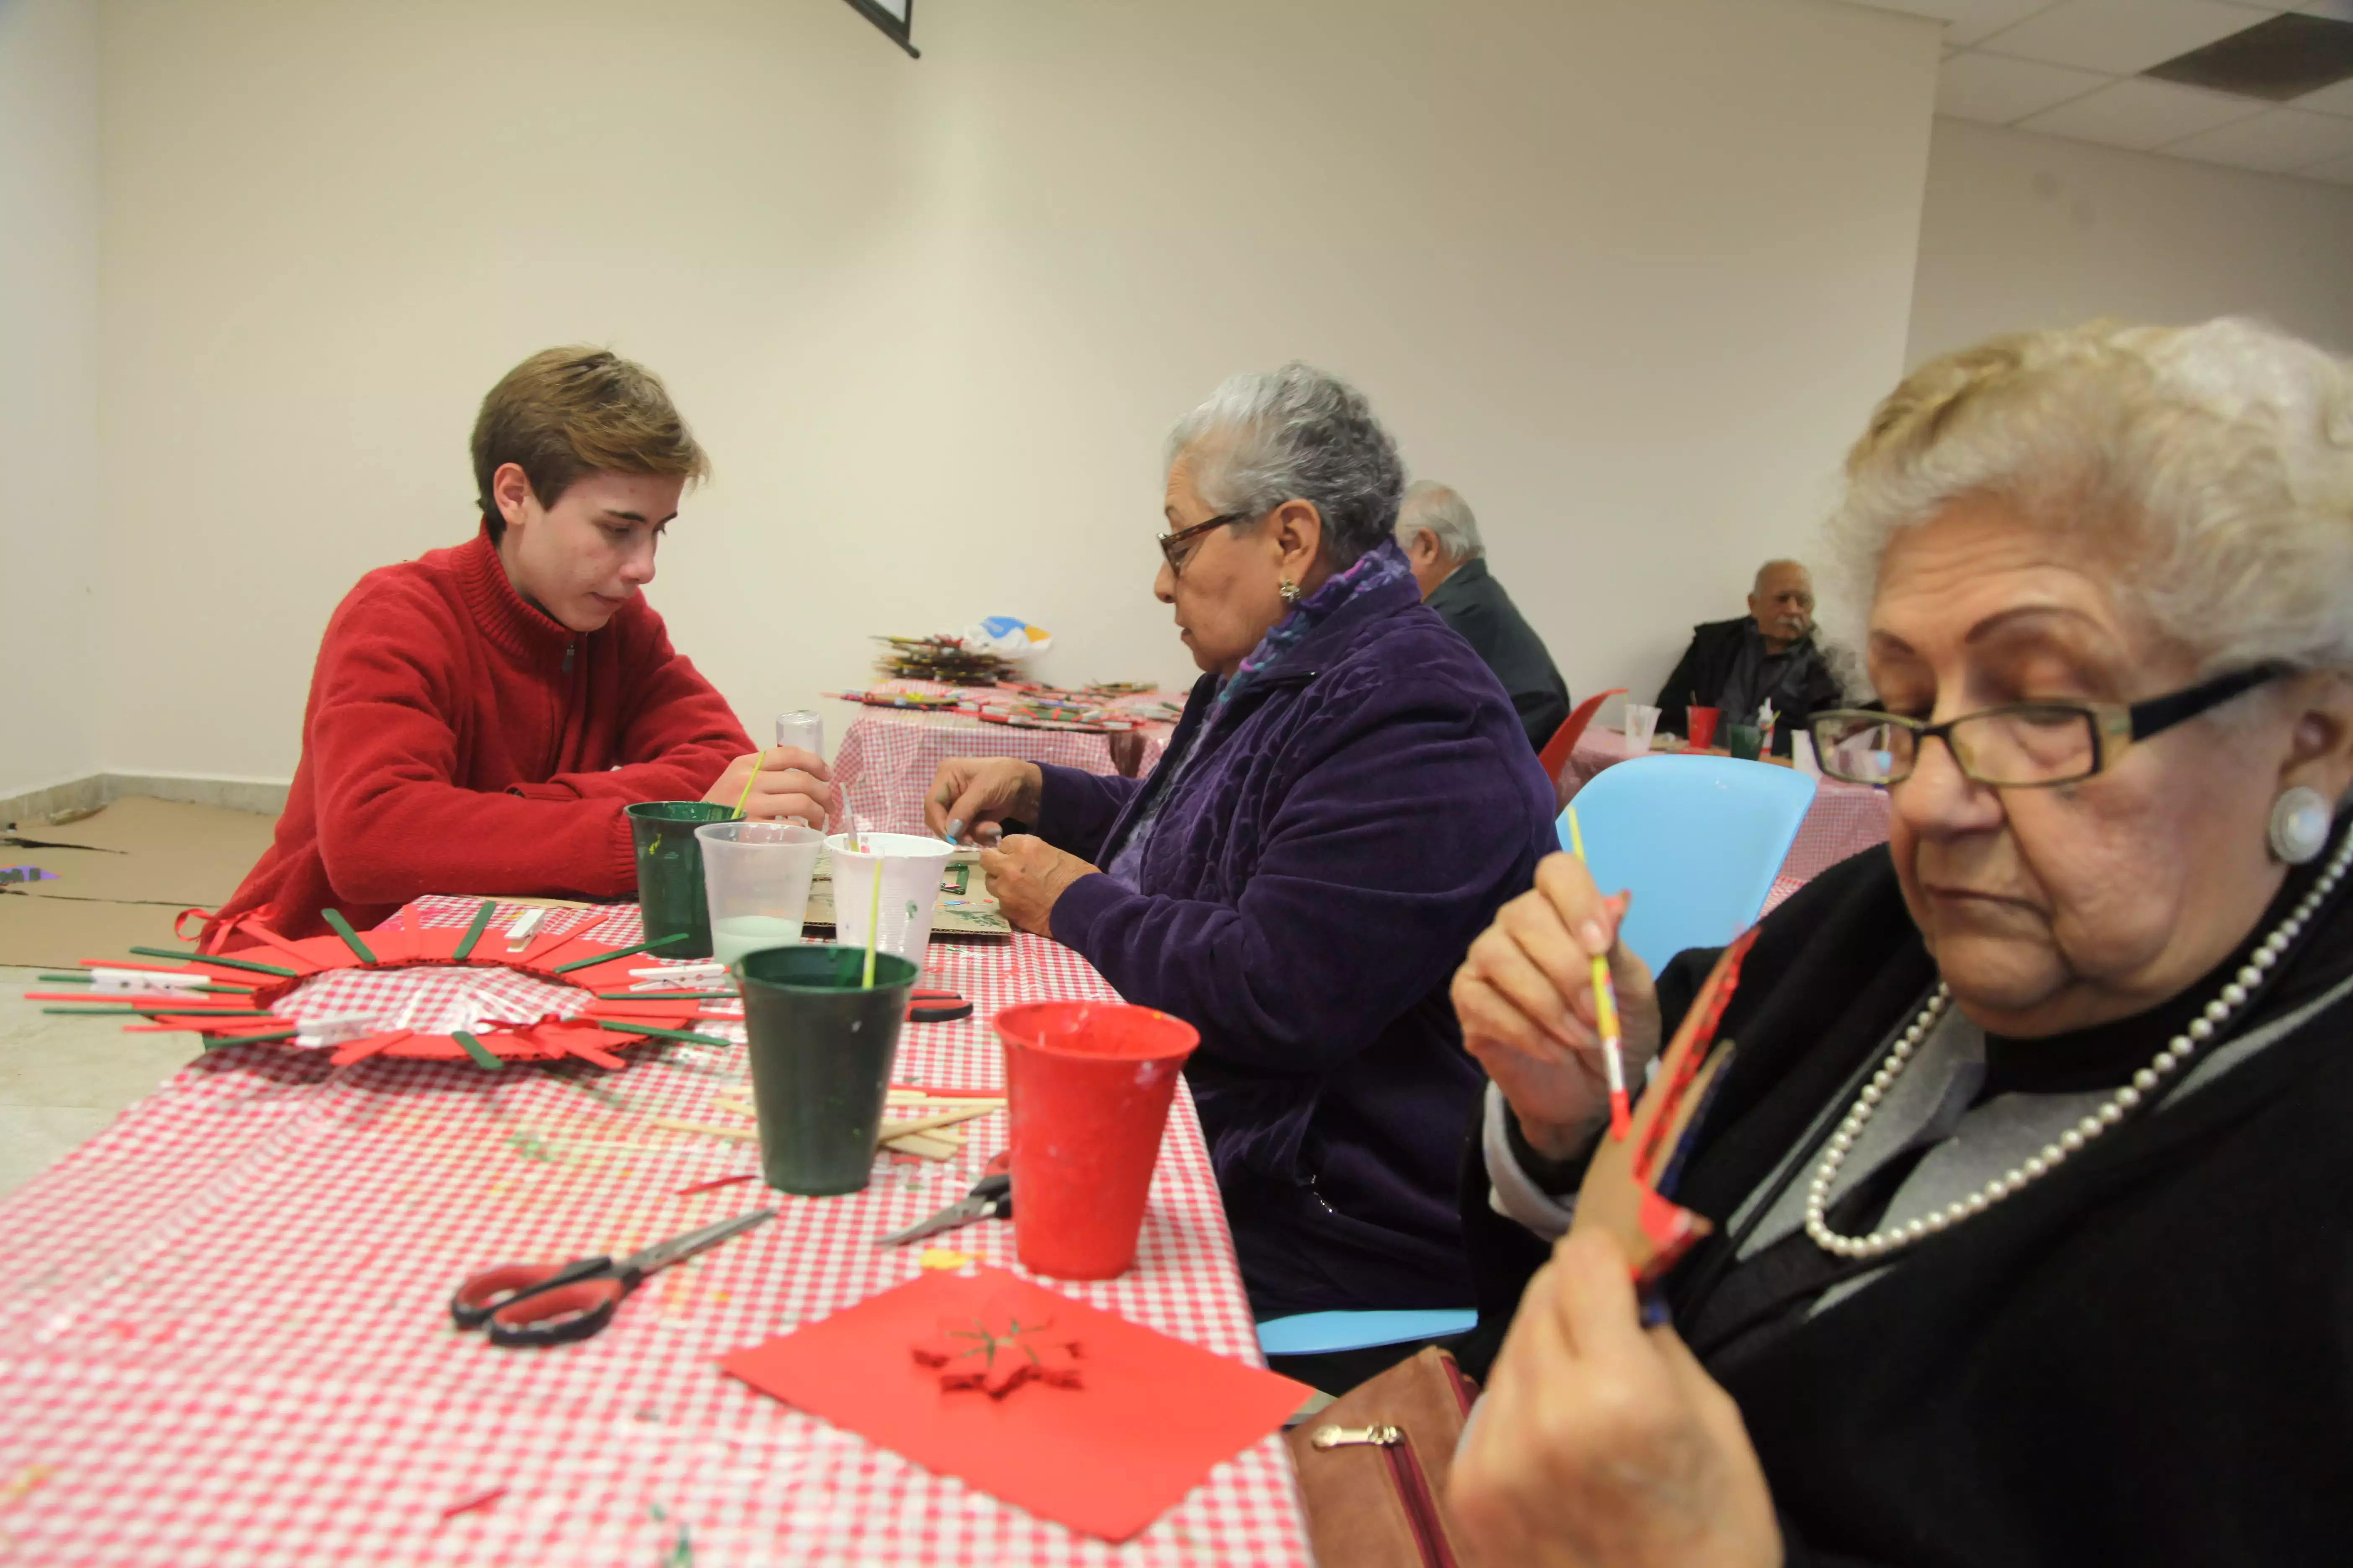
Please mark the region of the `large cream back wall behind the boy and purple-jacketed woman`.
[[[1901, 369], [1937, 31], [1828, 0], [108, 0], [108, 766], [285, 776], [513, 360], [668, 381], [652, 599], [748, 719], [993, 611], [1191, 675], [1160, 437], [1358, 378], [1579, 691], [1800, 548]], [[235, 672], [195, 705], [174, 672]], [[840, 710], [833, 710], [840, 715]], [[758, 724], [755, 724], [758, 726]]]

